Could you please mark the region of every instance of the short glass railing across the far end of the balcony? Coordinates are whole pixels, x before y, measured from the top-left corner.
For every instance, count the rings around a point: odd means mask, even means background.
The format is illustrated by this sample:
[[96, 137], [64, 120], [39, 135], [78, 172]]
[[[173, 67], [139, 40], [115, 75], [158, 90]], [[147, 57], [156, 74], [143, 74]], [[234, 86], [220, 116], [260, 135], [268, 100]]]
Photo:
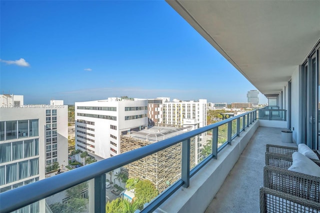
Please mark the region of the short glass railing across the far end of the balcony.
[[286, 120], [286, 110], [278, 106], [266, 106], [258, 109], [258, 119], [265, 120]]

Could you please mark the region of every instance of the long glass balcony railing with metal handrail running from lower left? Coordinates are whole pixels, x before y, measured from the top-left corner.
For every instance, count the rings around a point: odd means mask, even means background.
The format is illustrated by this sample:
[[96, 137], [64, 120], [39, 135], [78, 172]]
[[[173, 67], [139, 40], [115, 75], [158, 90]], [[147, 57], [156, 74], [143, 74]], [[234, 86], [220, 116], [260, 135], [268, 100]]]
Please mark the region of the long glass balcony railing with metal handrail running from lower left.
[[70, 208], [70, 212], [105, 212], [106, 203], [124, 196], [132, 198], [125, 195], [125, 175], [153, 183], [154, 198], [139, 203], [141, 212], [151, 212], [178, 188], [188, 187], [190, 177], [217, 158], [254, 120], [256, 110], [2, 192], [0, 212], [37, 202], [40, 212], [42, 207], [43, 211], [50, 207], [52, 212], [61, 208]]

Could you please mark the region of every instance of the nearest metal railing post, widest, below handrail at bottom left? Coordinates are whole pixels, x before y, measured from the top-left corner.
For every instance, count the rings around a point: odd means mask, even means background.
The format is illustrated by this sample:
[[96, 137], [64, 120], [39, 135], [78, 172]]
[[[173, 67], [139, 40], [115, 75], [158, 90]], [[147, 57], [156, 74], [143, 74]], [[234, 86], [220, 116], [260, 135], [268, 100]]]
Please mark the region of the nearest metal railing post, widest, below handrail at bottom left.
[[94, 177], [94, 213], [98, 212], [105, 212], [105, 174]]

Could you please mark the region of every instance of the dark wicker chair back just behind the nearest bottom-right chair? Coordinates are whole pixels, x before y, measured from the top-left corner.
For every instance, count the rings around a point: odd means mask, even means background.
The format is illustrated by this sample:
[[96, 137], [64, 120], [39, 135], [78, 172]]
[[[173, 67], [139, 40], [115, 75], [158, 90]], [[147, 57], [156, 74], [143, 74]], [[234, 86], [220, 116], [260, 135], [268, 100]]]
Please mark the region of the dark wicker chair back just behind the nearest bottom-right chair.
[[263, 186], [317, 203], [320, 201], [320, 177], [317, 176], [266, 165], [263, 167]]

